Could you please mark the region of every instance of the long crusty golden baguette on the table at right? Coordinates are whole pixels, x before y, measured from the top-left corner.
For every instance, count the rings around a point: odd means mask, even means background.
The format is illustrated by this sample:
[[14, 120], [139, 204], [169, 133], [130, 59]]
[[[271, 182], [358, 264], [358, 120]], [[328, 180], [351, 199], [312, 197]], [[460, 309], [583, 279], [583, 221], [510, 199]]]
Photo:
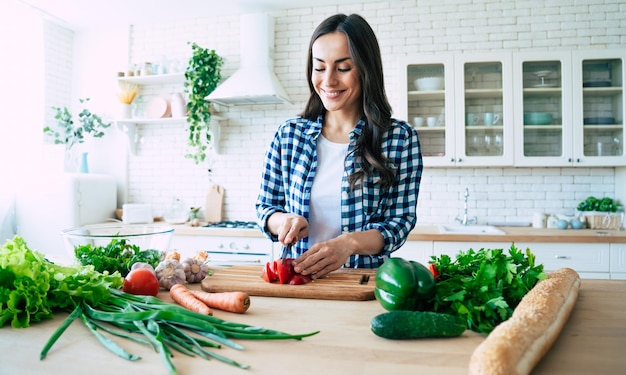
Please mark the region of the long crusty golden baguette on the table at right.
[[474, 350], [469, 374], [530, 374], [550, 350], [576, 304], [580, 276], [571, 268], [551, 272]]

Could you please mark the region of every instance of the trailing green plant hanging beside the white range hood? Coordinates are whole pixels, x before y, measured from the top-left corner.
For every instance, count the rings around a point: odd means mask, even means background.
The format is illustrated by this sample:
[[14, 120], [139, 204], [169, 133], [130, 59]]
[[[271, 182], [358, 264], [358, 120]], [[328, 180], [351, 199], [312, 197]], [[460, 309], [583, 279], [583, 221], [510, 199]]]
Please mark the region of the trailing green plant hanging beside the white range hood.
[[187, 123], [189, 152], [186, 158], [196, 164], [206, 159], [207, 147], [211, 144], [211, 103], [205, 98], [222, 79], [224, 60], [215, 50], [190, 43], [193, 54], [185, 70], [185, 93], [187, 94]]

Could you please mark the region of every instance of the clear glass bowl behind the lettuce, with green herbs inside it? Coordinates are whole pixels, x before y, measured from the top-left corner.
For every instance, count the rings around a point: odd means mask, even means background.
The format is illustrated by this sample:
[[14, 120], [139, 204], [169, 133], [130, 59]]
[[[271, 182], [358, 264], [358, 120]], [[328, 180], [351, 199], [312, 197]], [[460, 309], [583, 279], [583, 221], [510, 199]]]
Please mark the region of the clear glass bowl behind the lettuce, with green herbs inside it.
[[92, 245], [105, 247], [113, 240], [126, 240], [140, 250], [157, 250], [165, 253], [169, 250], [174, 227], [159, 224], [141, 225], [94, 225], [70, 228], [61, 231], [65, 250], [75, 259], [74, 248]]

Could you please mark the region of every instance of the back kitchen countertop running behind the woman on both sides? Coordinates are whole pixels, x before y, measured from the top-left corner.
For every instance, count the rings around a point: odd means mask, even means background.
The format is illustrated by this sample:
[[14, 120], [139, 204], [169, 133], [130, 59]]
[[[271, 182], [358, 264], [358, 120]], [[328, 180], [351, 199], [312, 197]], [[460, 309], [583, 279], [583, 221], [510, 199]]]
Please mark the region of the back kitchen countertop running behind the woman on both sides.
[[[498, 234], [442, 234], [434, 225], [418, 225], [409, 234], [408, 241], [453, 242], [576, 242], [576, 243], [626, 243], [626, 231], [596, 229], [538, 229], [532, 227], [498, 227]], [[174, 233], [187, 236], [235, 236], [265, 238], [256, 229], [205, 228], [174, 225]]]

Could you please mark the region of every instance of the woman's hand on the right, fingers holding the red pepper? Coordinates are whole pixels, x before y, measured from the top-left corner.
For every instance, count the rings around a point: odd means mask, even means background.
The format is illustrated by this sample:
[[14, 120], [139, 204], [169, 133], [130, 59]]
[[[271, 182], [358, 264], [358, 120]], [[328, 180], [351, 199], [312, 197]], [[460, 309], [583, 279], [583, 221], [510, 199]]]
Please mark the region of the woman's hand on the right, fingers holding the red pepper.
[[352, 255], [345, 237], [339, 236], [329, 241], [311, 246], [309, 250], [293, 261], [294, 270], [303, 275], [319, 279], [339, 269]]

